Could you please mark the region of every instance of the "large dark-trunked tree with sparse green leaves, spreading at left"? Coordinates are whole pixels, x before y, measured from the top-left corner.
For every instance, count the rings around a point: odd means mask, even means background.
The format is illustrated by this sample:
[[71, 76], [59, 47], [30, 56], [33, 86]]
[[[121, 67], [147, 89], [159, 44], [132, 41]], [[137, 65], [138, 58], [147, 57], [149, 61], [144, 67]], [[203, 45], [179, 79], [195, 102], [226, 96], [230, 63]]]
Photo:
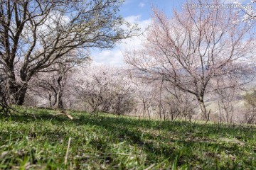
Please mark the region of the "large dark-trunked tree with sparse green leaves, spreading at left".
[[12, 102], [21, 105], [31, 77], [65, 60], [68, 52], [111, 48], [131, 36], [134, 29], [124, 30], [117, 15], [121, 5], [121, 0], [1, 0], [0, 57]]

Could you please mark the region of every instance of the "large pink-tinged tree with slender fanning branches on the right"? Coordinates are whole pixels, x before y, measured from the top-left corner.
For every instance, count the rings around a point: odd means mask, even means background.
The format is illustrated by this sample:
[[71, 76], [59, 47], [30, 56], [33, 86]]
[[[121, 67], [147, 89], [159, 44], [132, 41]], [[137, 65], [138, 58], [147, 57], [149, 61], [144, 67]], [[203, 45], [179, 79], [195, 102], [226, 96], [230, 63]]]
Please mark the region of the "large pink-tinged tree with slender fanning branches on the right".
[[[221, 1], [188, 1], [220, 4]], [[231, 8], [183, 8], [168, 18], [153, 8], [154, 16], [143, 41], [144, 48], [126, 52], [126, 62], [146, 79], [169, 82], [181, 91], [196, 96], [205, 120], [209, 118], [204, 96], [218, 86], [217, 77], [239, 77], [239, 60], [253, 50], [252, 25], [237, 23]], [[222, 86], [224, 88], [224, 86]], [[225, 88], [228, 88], [225, 86]]]

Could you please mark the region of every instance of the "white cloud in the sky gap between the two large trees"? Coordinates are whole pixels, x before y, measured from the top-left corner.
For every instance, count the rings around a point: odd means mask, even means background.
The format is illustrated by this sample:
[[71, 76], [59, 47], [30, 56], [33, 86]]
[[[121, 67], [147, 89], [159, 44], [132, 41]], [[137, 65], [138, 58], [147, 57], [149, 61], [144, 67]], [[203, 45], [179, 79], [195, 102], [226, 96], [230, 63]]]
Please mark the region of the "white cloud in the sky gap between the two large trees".
[[[151, 23], [151, 19], [141, 20], [141, 16], [128, 16], [124, 18], [129, 23], [137, 23], [139, 28], [142, 31], [146, 30], [146, 28]], [[141, 44], [141, 37], [133, 37], [126, 40], [122, 40], [117, 46], [112, 50], [95, 50], [92, 52], [92, 60], [95, 64], [107, 64], [114, 66], [123, 66], [124, 58], [122, 52], [126, 49], [134, 49], [139, 48]]]

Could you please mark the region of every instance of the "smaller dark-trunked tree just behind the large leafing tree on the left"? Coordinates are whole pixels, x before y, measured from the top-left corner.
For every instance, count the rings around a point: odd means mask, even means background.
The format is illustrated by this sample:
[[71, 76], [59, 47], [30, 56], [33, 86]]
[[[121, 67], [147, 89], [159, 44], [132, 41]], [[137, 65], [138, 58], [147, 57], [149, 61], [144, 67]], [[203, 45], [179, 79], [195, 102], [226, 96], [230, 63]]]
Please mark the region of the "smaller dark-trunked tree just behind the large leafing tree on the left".
[[58, 59], [56, 64], [48, 67], [47, 72], [40, 72], [32, 77], [29, 86], [29, 94], [45, 98], [48, 100], [47, 106], [51, 108], [63, 109], [65, 97], [70, 98], [70, 89], [73, 84], [70, 83], [75, 67], [91, 61], [90, 52], [85, 50], [76, 50], [69, 52], [65, 60]]

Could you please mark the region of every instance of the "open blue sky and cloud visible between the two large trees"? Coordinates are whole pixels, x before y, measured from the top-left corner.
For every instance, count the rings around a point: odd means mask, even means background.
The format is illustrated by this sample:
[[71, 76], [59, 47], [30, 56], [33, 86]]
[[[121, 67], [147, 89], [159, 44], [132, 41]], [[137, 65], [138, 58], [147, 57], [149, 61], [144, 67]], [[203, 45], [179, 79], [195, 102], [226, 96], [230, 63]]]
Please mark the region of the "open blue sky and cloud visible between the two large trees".
[[[233, 3], [235, 0], [225, 0], [225, 4]], [[236, 0], [241, 4], [247, 4], [250, 0]], [[224, 0], [223, 0], [224, 3]], [[181, 9], [186, 4], [186, 0], [126, 0], [120, 8], [120, 15], [130, 23], [137, 23], [139, 28], [145, 30], [151, 23], [151, 6], [156, 6], [164, 11], [167, 16], [172, 15], [174, 8]], [[255, 8], [255, 5], [253, 6]], [[91, 51], [92, 61], [95, 64], [107, 64], [113, 66], [124, 66], [124, 58], [122, 53], [126, 49], [134, 49], [139, 47], [141, 38], [129, 38], [118, 42], [112, 50]]]

